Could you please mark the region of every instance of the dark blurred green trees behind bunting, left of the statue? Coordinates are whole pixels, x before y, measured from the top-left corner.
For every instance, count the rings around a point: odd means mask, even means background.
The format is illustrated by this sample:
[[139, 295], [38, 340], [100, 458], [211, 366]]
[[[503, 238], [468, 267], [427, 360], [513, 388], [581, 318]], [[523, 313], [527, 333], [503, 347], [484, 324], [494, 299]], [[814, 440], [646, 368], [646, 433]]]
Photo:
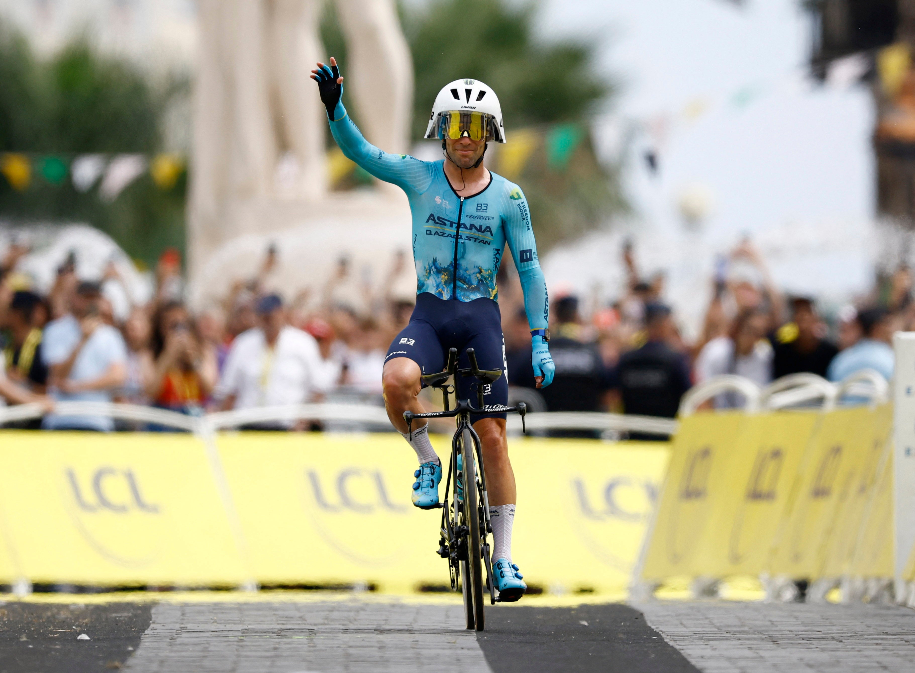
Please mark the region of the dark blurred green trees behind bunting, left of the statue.
[[[53, 154], [68, 164], [85, 152], [156, 152], [170, 96], [187, 89], [178, 80], [157, 89], [129, 61], [102, 57], [84, 41], [37, 60], [8, 27], [0, 27], [0, 82], [0, 151]], [[147, 264], [167, 246], [183, 249], [185, 176], [160, 190], [146, 174], [109, 204], [94, 189], [81, 193], [69, 179], [49, 184], [35, 173], [21, 192], [0, 178], [0, 218], [91, 223]]]

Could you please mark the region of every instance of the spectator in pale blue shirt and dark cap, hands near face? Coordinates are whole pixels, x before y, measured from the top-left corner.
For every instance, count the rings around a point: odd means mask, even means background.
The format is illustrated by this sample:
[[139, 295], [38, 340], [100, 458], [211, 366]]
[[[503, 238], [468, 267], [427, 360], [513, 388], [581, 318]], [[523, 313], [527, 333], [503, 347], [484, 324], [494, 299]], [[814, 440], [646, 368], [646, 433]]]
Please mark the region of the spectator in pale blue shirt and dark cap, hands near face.
[[[42, 355], [49, 369], [50, 395], [58, 401], [111, 402], [127, 377], [121, 332], [102, 322], [97, 283], [81, 282], [70, 295], [69, 311], [45, 327]], [[108, 432], [112, 418], [46, 416], [44, 429]]]

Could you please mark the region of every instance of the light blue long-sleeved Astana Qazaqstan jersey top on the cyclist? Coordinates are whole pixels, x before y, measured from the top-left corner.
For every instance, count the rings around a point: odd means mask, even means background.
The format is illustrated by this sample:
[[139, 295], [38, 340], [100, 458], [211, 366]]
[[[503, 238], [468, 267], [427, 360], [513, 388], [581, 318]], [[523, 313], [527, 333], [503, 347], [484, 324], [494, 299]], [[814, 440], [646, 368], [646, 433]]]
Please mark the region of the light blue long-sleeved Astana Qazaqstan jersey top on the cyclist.
[[330, 131], [346, 157], [406, 192], [413, 212], [416, 294], [498, 301], [496, 274], [508, 246], [521, 277], [530, 326], [547, 326], [546, 282], [537, 259], [531, 213], [518, 185], [490, 171], [486, 189], [459, 197], [445, 176], [444, 160], [421, 161], [372, 146], [342, 103], [338, 103]]

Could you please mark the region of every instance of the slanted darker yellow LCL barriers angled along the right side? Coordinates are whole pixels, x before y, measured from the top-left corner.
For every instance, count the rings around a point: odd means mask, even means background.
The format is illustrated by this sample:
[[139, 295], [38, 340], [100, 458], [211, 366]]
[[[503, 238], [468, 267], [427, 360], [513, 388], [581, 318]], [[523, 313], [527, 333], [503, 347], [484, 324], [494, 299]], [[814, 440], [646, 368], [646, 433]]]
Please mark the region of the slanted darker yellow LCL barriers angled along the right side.
[[891, 421], [889, 405], [684, 418], [638, 579], [891, 576]]

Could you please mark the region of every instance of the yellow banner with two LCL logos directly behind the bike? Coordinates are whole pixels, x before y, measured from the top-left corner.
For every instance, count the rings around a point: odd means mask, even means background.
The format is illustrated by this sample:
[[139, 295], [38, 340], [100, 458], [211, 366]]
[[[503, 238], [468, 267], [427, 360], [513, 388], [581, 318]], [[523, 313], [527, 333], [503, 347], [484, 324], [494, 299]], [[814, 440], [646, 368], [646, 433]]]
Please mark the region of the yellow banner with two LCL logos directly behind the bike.
[[[449, 442], [433, 438], [443, 459]], [[436, 554], [442, 512], [411, 504], [416, 460], [400, 437], [249, 432], [221, 435], [218, 445], [261, 583], [360, 582], [400, 592], [448, 584]], [[510, 453], [518, 483], [512, 555], [525, 581], [624, 591], [666, 445], [527, 439], [511, 440]]]

